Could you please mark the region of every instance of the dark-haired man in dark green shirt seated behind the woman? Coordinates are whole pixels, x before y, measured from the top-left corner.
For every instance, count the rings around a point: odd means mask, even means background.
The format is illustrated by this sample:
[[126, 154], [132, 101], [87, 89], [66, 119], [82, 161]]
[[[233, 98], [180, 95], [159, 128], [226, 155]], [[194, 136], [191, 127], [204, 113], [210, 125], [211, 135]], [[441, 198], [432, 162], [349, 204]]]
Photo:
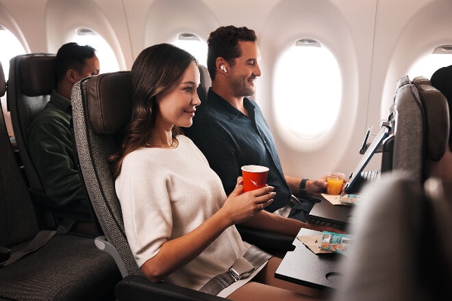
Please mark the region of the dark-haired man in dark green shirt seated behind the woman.
[[27, 147], [45, 193], [59, 206], [88, 211], [88, 200], [74, 162], [70, 121], [74, 83], [99, 74], [95, 49], [75, 42], [62, 45], [55, 62], [56, 88], [29, 125]]

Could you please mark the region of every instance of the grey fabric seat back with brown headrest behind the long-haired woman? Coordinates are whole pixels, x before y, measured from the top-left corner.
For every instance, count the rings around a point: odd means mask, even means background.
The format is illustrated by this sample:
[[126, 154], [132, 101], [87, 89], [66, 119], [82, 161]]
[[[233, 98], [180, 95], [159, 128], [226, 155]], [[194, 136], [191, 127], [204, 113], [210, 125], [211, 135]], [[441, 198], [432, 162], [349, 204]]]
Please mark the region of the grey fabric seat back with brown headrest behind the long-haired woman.
[[128, 71], [82, 79], [71, 95], [81, 174], [103, 233], [125, 265], [123, 276], [142, 273], [127, 243], [108, 156], [121, 146], [121, 131], [131, 117], [130, 96]]

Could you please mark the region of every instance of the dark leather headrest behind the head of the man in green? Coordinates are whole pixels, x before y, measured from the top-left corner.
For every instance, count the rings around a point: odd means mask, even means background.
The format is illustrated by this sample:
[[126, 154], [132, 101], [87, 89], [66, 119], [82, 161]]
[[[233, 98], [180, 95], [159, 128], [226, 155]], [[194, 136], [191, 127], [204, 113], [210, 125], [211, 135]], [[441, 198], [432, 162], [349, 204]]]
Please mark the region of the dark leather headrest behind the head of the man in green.
[[31, 55], [20, 63], [22, 93], [27, 96], [51, 94], [56, 87], [55, 55]]

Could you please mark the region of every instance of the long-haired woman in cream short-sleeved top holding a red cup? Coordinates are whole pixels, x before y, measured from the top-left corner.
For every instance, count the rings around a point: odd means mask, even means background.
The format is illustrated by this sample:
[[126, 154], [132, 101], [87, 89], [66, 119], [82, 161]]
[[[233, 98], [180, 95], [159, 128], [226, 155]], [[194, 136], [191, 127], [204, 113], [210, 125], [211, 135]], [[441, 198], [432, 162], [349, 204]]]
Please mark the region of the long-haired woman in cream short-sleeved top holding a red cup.
[[[281, 259], [242, 241], [234, 226], [295, 236], [301, 222], [263, 210], [275, 196], [271, 186], [243, 193], [239, 177], [227, 197], [203, 153], [181, 135], [200, 103], [197, 60], [158, 44], [138, 55], [130, 75], [131, 120], [110, 161], [127, 241], [143, 274], [231, 300], [312, 300], [305, 293], [318, 290], [276, 279]], [[235, 265], [244, 273], [236, 281], [228, 270], [242, 257], [248, 262]]]

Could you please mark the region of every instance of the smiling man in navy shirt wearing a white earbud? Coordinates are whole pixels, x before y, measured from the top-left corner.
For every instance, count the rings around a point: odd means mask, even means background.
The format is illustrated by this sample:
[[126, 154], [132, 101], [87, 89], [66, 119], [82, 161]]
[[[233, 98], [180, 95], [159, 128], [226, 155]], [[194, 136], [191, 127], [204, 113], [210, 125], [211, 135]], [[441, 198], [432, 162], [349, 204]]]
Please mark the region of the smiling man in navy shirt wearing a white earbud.
[[[234, 190], [242, 166], [266, 166], [270, 169], [267, 183], [277, 193], [266, 210], [305, 222], [305, 213], [317, 201], [309, 196], [326, 192], [326, 176], [308, 180], [284, 174], [260, 107], [247, 98], [254, 94], [255, 80], [261, 75], [256, 40], [247, 27], [219, 27], [210, 34], [207, 67], [212, 88], [193, 126], [184, 131], [220, 176], [227, 194]], [[292, 194], [301, 202], [291, 202]]]

